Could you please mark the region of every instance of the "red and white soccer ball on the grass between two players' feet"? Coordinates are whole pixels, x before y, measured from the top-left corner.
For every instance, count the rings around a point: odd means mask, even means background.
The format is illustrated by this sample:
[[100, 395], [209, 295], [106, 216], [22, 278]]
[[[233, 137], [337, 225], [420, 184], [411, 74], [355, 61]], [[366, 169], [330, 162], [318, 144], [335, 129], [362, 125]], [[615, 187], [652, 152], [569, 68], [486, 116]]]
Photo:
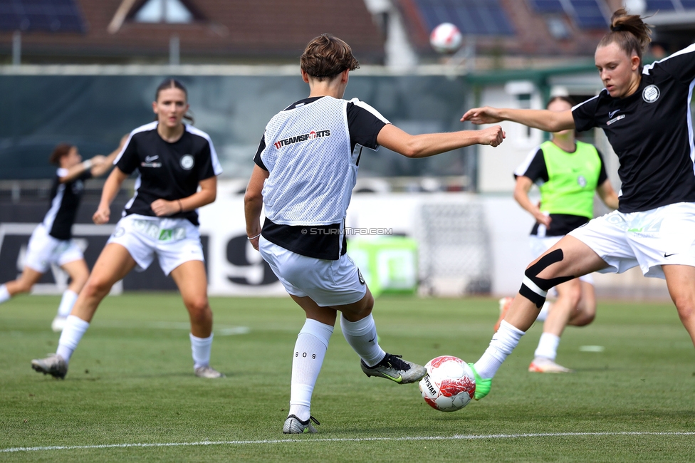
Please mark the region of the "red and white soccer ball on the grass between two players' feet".
[[441, 412], [455, 412], [468, 405], [476, 393], [476, 378], [464, 360], [451, 355], [433, 358], [424, 365], [420, 393], [427, 404]]

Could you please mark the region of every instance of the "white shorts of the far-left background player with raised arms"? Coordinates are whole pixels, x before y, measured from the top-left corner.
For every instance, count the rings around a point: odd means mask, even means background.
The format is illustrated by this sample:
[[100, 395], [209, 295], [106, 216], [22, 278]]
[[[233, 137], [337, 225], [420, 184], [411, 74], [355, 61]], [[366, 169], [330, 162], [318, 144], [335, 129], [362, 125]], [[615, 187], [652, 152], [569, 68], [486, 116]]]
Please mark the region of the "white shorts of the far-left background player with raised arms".
[[45, 225], [39, 224], [29, 238], [25, 265], [45, 274], [51, 264], [63, 266], [84, 258], [82, 249], [75, 244], [75, 241], [55, 238], [48, 234]]

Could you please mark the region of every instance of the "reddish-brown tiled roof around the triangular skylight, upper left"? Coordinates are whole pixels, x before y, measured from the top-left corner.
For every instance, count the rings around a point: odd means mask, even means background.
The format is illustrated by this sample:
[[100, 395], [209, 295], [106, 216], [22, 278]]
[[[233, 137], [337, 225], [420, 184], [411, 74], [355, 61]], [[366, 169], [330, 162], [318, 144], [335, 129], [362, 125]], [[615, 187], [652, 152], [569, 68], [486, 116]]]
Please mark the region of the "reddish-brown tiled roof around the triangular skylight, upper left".
[[[3, 3], [42, 1], [53, 0], [0, 0], [0, 16]], [[311, 38], [326, 32], [350, 43], [365, 63], [384, 58], [384, 38], [363, 0], [174, 0], [192, 12], [188, 24], [135, 21], [148, 0], [58, 1], [76, 4], [83, 30], [27, 28], [21, 35], [23, 62], [161, 61], [174, 35], [183, 61], [294, 61]], [[0, 29], [8, 53], [14, 31]]]

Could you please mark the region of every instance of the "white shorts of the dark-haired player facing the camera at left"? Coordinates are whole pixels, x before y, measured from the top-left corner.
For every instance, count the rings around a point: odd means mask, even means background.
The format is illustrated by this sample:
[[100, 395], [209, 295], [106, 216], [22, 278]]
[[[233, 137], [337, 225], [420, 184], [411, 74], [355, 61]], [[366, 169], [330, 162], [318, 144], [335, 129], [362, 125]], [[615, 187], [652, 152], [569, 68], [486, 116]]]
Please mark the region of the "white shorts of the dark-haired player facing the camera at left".
[[107, 241], [120, 244], [135, 260], [136, 271], [145, 271], [157, 255], [164, 275], [187, 261], [204, 261], [198, 227], [187, 219], [131, 214], [116, 224]]

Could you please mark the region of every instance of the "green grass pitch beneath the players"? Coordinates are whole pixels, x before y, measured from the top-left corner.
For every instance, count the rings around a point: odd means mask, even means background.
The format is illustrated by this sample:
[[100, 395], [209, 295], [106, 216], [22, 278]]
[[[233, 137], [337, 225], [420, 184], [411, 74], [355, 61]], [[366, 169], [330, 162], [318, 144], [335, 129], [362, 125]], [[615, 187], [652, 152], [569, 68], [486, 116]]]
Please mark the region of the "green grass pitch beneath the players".
[[[527, 372], [537, 323], [490, 395], [454, 413], [432, 410], [417, 385], [367, 378], [338, 326], [313, 397], [319, 432], [286, 436], [303, 323], [290, 299], [211, 299], [223, 380], [194, 377], [174, 293], [106, 298], [66, 380], [39, 375], [30, 361], [56, 349], [58, 301], [0, 306], [0, 461], [695, 461], [695, 349], [670, 303], [600, 301], [592, 325], [565, 331], [558, 362], [577, 370], [568, 375]], [[497, 303], [380, 298], [374, 315], [391, 353], [475, 361]]]

